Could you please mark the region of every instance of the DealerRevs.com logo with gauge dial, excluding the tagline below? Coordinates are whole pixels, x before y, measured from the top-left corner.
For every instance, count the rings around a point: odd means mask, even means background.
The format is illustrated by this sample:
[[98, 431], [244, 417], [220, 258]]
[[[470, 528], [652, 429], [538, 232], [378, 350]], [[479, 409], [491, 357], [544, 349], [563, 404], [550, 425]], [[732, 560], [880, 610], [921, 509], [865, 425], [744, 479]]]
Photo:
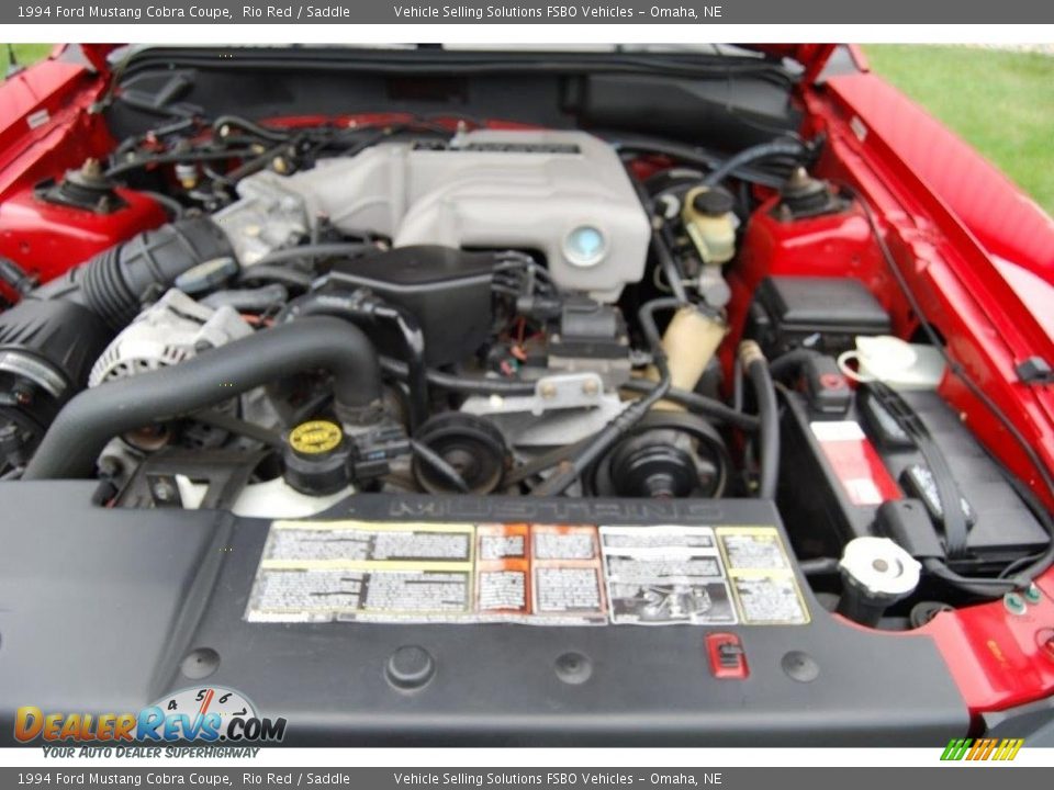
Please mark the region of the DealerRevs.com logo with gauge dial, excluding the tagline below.
[[244, 695], [222, 687], [183, 689], [137, 712], [45, 712], [24, 706], [14, 719], [14, 737], [23, 744], [121, 746], [193, 742], [240, 746], [280, 743], [284, 736], [284, 719], [258, 715]]

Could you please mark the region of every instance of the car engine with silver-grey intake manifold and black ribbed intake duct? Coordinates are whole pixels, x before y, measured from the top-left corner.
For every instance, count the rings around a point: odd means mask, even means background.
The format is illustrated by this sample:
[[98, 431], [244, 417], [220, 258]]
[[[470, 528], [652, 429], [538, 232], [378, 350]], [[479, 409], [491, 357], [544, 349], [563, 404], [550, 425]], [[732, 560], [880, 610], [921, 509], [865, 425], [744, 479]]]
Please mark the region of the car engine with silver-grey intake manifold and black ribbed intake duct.
[[[280, 516], [324, 509], [352, 487], [529, 493], [553, 465], [538, 460], [543, 450], [582, 442], [627, 410], [619, 390], [650, 352], [633, 348], [617, 303], [644, 274], [652, 227], [612, 146], [583, 132], [484, 129], [442, 145], [382, 143], [288, 174], [283, 161], [238, 180], [218, 211], [106, 250], [4, 315], [4, 370], [40, 391], [5, 415], [18, 435], [10, 467], [32, 455], [27, 472], [41, 473], [47, 442], [36, 445], [85, 384], [100, 395], [119, 381], [135, 387], [195, 358], [240, 354], [249, 336], [333, 319], [379, 351], [361, 360], [373, 384], [354, 406], [311, 372], [276, 376], [210, 393], [205, 420], [180, 415], [115, 433], [94, 456], [86, 448], [80, 469], [64, 451], [64, 469], [44, 474], [109, 470], [120, 501], [149, 500], [149, 467], [168, 452], [278, 447], [314, 425], [305, 436], [333, 447], [284, 447], [280, 477], [247, 483], [222, 505], [243, 512], [264, 501]], [[49, 338], [59, 325], [75, 339]], [[683, 336], [672, 341], [683, 343], [679, 385], [695, 385], [724, 332], [716, 312], [681, 314], [670, 332]], [[703, 345], [689, 351], [694, 340]], [[719, 435], [700, 421], [669, 459], [650, 458], [671, 432], [682, 431], [655, 428], [621, 448], [617, 470], [590, 490], [719, 495], [730, 472]], [[537, 472], [514, 471], [517, 459]], [[200, 504], [193, 479], [176, 474], [166, 490]]]

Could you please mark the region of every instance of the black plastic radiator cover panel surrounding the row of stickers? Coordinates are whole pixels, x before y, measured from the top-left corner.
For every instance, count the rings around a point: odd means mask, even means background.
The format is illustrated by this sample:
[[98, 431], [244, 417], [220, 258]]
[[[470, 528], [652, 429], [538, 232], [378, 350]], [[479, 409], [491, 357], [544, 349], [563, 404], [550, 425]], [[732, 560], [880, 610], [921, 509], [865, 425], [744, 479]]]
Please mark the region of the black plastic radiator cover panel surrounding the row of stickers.
[[[249, 623], [268, 522], [216, 511], [106, 510], [92, 484], [0, 484], [0, 742], [20, 706], [138, 710], [195, 684], [287, 716], [287, 744], [912, 745], [966, 734], [966, 708], [927, 636], [843, 624], [817, 605], [797, 627], [731, 627], [750, 676], [714, 677], [697, 625]], [[347, 499], [327, 518], [778, 527], [759, 500]], [[781, 528], [782, 529], [782, 528]], [[784, 535], [784, 540], [785, 535]], [[435, 659], [407, 692], [384, 667], [403, 645]], [[181, 674], [209, 647], [208, 680]], [[558, 657], [585, 656], [568, 682]], [[789, 657], [788, 657], [789, 654]], [[812, 679], [794, 670], [800, 654]], [[797, 679], [796, 679], [797, 678]]]

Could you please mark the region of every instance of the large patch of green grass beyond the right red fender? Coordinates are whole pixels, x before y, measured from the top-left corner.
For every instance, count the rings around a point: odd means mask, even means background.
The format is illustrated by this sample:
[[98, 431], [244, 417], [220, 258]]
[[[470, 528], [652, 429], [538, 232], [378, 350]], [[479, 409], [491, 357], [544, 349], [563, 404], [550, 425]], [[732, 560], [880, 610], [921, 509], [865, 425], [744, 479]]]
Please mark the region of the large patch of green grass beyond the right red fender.
[[865, 46], [871, 68], [1054, 215], [1054, 57], [964, 46]]

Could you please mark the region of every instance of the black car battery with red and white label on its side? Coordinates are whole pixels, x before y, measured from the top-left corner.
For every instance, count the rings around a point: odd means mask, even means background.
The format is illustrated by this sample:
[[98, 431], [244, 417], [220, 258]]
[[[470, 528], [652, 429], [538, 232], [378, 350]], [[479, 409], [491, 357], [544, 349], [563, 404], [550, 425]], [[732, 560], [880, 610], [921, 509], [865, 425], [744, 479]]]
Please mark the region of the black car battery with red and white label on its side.
[[[934, 391], [901, 392], [944, 455], [962, 495], [967, 555], [961, 572], [998, 569], [1042, 551], [1046, 533], [985, 452]], [[940, 534], [943, 508], [919, 450], [866, 387], [830, 416], [807, 397], [787, 394], [777, 501], [799, 556], [840, 556], [853, 538], [875, 535], [886, 501], [919, 499]]]

